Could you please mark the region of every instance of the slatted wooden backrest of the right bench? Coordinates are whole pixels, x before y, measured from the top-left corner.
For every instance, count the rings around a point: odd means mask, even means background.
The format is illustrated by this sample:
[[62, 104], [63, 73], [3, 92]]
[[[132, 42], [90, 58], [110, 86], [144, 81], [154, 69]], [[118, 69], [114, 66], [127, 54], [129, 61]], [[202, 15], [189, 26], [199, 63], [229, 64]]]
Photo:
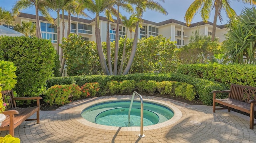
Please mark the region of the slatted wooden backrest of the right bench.
[[228, 98], [244, 101], [246, 103], [251, 99], [256, 100], [256, 87], [231, 84], [230, 90], [231, 92]]

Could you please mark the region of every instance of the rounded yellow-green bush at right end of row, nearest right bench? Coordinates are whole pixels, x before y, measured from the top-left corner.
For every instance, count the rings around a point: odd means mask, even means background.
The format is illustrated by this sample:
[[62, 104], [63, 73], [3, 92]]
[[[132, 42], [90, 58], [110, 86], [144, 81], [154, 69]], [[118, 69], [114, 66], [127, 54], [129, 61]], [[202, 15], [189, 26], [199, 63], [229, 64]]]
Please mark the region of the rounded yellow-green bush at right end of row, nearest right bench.
[[178, 87], [175, 88], [175, 95], [181, 96], [182, 98], [185, 98], [189, 101], [192, 101], [195, 99], [196, 92], [194, 92], [193, 89], [194, 86], [187, 83], [181, 83], [178, 85]]

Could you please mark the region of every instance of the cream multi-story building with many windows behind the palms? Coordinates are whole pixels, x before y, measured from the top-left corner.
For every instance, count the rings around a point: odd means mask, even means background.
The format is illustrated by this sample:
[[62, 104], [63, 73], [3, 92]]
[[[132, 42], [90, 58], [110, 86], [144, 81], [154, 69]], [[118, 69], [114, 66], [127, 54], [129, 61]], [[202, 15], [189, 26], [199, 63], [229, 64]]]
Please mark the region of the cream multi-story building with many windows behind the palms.
[[[65, 18], [65, 37], [66, 31], [68, 29], [68, 16], [64, 16]], [[57, 43], [57, 27], [54, 24], [46, 21], [44, 17], [39, 16], [40, 20], [40, 28], [42, 32], [42, 38], [51, 39], [54, 46]], [[22, 21], [26, 22], [36, 22], [36, 16], [32, 14], [20, 13], [18, 17], [15, 18], [15, 22], [21, 24]], [[57, 20], [55, 19], [55, 22]], [[4, 24], [2, 24], [4, 25]], [[100, 16], [100, 35], [102, 41], [106, 41], [106, 30], [107, 30], [107, 19], [105, 17]], [[9, 28], [13, 28], [12, 25], [4, 25]], [[208, 22], [205, 24], [204, 22], [197, 22], [191, 24], [189, 27], [186, 26], [184, 22], [180, 22], [178, 20], [170, 19], [163, 22], [151, 22], [148, 20], [144, 20], [142, 23], [142, 27], [139, 29], [138, 38], [142, 37], [150, 37], [150, 36], [158, 36], [163, 35], [166, 38], [171, 38], [171, 41], [176, 41], [176, 45], [180, 48], [183, 45], [189, 43], [189, 37], [192, 35], [192, 32], [198, 28], [199, 32], [202, 35], [211, 35], [212, 34], [212, 23]], [[62, 15], [60, 15], [60, 35], [62, 35]], [[81, 35], [85, 40], [96, 41], [95, 40], [95, 18], [92, 20], [87, 20], [84, 18], [76, 18], [71, 17], [71, 26], [70, 33], [75, 33], [77, 35]], [[116, 40], [116, 23], [110, 22], [110, 40]], [[124, 25], [119, 24], [119, 37], [124, 38], [126, 32], [128, 32], [128, 37], [134, 37], [134, 32], [130, 35], [130, 31], [126, 31], [126, 27]], [[220, 42], [225, 40], [224, 34], [227, 33], [224, 25], [217, 25], [216, 28], [216, 36], [220, 38]]]

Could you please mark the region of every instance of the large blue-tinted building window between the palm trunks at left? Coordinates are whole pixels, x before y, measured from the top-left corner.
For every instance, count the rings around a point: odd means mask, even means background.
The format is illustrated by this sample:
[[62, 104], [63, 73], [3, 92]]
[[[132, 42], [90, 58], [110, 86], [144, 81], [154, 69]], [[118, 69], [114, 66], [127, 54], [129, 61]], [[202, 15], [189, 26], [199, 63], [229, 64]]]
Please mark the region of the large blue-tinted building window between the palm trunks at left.
[[52, 43], [57, 43], [57, 27], [55, 25], [41, 22], [40, 27], [43, 39], [49, 39]]

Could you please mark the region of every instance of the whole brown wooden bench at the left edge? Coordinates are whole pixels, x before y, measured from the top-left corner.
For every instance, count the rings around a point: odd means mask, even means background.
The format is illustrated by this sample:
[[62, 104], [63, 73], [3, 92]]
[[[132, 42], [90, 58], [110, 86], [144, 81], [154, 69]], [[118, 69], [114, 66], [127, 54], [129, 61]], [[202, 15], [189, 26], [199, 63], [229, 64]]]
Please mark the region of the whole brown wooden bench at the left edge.
[[[39, 100], [42, 99], [42, 97], [14, 97], [12, 90], [1, 91], [1, 93], [3, 97], [9, 96], [10, 99], [6, 101], [9, 105], [6, 106], [6, 111], [3, 112], [3, 114], [6, 115], [6, 119], [2, 121], [0, 131], [9, 131], [10, 135], [14, 136], [14, 129], [23, 121], [36, 120], [36, 123], [39, 123]], [[16, 106], [16, 100], [36, 100], [36, 106], [20, 108]], [[36, 119], [28, 119], [34, 113], [36, 113]]]

